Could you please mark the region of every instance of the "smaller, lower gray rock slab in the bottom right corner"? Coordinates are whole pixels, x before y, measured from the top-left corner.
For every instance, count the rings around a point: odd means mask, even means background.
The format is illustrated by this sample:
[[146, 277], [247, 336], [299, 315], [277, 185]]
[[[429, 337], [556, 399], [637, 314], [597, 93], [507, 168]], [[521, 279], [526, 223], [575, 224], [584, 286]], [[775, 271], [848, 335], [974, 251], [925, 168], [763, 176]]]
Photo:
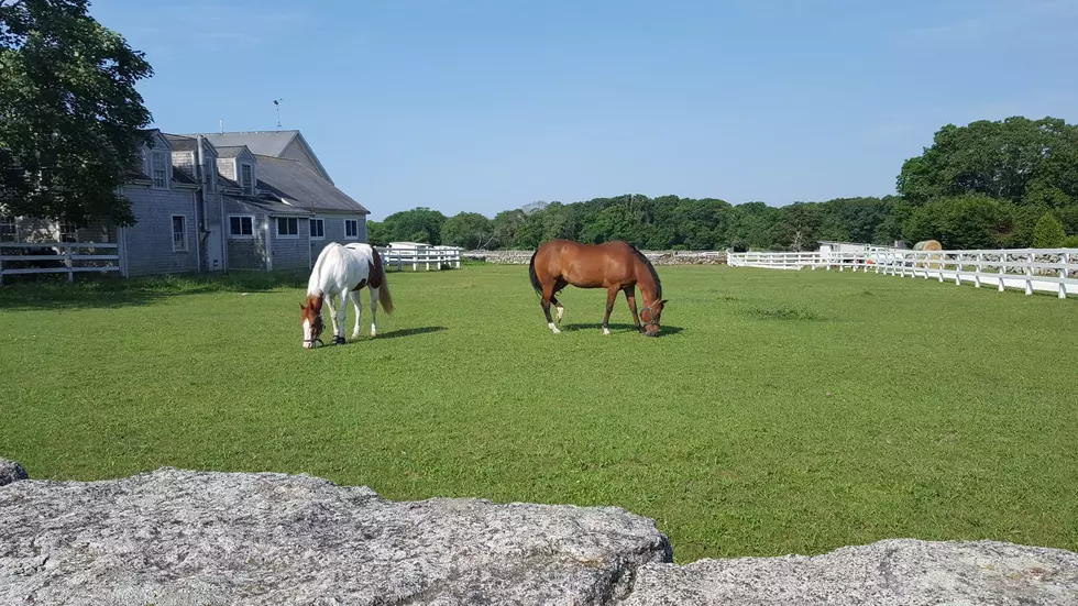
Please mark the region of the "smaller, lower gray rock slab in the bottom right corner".
[[1078, 553], [893, 539], [816, 557], [646, 565], [624, 606], [1076, 606]]

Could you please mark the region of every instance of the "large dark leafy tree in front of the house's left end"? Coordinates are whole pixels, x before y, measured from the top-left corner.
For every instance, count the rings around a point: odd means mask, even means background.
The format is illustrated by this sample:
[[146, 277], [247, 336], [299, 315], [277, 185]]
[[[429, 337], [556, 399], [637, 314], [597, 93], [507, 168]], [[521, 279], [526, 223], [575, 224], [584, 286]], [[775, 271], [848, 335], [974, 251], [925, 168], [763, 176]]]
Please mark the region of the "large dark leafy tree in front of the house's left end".
[[87, 5], [0, 0], [0, 210], [130, 225], [117, 191], [150, 141], [135, 84], [153, 69]]

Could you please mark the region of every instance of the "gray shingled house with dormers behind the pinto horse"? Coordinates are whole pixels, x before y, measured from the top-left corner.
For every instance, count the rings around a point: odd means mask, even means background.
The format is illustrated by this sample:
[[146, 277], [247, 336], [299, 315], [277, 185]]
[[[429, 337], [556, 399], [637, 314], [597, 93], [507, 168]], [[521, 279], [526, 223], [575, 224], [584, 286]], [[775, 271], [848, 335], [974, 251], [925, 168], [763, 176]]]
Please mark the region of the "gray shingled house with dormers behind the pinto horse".
[[123, 192], [138, 223], [0, 218], [0, 240], [118, 242], [130, 276], [309, 268], [327, 242], [365, 242], [370, 211], [337, 188], [299, 131], [150, 131]]

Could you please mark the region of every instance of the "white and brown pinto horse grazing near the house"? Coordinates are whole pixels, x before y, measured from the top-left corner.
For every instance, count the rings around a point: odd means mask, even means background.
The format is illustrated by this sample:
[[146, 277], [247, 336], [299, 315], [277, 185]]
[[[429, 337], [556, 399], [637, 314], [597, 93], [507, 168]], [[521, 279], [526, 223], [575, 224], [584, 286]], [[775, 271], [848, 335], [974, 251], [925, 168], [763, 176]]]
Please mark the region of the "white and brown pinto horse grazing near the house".
[[[330, 242], [318, 254], [307, 282], [307, 300], [299, 305], [299, 322], [304, 327], [304, 348], [321, 344], [322, 305], [329, 307], [333, 321], [333, 344], [343, 344], [345, 297], [355, 306], [355, 329], [352, 339], [360, 337], [360, 289], [371, 290], [371, 337], [377, 337], [378, 302], [386, 313], [393, 313], [393, 297], [386, 283], [385, 268], [378, 251], [370, 244], [342, 246]], [[333, 310], [333, 299], [340, 297], [340, 307]]]

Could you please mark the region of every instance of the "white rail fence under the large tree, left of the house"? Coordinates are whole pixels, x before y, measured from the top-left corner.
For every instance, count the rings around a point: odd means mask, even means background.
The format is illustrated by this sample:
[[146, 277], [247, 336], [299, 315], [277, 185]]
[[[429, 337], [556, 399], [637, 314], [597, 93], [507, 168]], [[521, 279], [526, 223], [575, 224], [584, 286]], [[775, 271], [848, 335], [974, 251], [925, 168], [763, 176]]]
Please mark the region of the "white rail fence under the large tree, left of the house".
[[[87, 249], [94, 250], [92, 254], [77, 252]], [[123, 273], [119, 249], [119, 244], [107, 242], [0, 242], [0, 285], [3, 285], [4, 276], [25, 274], [67, 274], [67, 282], [75, 282], [77, 273]], [[100, 254], [98, 250], [111, 253]], [[11, 254], [10, 251], [21, 251], [23, 254]], [[53, 254], [32, 254], [38, 251], [51, 251]], [[41, 262], [53, 263], [44, 267], [21, 266], [29, 262], [37, 262], [38, 265]], [[86, 262], [89, 264], [84, 265]]]

